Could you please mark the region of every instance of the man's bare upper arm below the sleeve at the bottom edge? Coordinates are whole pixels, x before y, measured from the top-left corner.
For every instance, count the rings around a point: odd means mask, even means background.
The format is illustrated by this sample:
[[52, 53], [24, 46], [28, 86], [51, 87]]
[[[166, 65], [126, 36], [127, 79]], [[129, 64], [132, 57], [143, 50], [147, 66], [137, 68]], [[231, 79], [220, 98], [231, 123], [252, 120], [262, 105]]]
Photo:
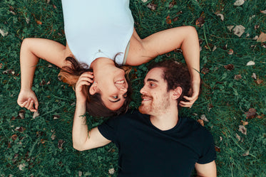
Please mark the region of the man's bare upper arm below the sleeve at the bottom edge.
[[198, 177], [216, 177], [216, 164], [215, 161], [210, 163], [200, 164], [195, 163], [195, 169]]

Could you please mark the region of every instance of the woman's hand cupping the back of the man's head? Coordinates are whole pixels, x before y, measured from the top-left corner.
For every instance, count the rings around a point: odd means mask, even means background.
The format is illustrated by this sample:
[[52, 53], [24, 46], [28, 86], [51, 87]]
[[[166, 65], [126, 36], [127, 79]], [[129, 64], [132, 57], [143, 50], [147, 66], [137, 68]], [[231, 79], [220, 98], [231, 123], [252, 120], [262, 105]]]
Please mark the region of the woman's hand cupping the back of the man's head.
[[191, 108], [193, 106], [200, 93], [200, 82], [192, 82], [190, 90], [193, 91], [193, 95], [191, 97], [184, 96], [185, 100], [188, 100], [188, 102], [180, 101], [179, 104], [181, 107]]

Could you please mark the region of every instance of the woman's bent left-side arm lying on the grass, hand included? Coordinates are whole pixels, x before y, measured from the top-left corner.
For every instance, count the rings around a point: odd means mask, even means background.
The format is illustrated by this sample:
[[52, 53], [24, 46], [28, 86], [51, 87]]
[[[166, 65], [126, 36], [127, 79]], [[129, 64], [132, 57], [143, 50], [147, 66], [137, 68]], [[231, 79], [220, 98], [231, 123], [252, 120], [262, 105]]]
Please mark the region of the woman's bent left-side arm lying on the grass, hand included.
[[31, 87], [39, 58], [62, 68], [63, 65], [66, 65], [64, 63], [65, 55], [69, 55], [66, 53], [66, 47], [56, 41], [44, 38], [24, 39], [20, 52], [21, 91], [17, 100], [21, 107], [26, 107], [31, 112], [36, 112], [38, 109], [39, 102]]

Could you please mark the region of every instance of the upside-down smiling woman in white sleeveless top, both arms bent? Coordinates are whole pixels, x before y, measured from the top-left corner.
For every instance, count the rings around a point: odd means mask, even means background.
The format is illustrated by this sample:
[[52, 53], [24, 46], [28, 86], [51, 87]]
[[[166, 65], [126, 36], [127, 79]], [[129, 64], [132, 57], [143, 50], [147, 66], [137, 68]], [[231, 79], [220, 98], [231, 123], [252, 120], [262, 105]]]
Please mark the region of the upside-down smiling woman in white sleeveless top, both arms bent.
[[[87, 90], [83, 88], [89, 114], [111, 116], [126, 112], [128, 82], [124, 70], [117, 68], [116, 63], [141, 65], [176, 48], [183, 50], [193, 88], [192, 97], [185, 97], [189, 102], [180, 104], [190, 107], [197, 100], [200, 90], [200, 50], [195, 28], [170, 28], [141, 39], [133, 27], [129, 0], [62, 0], [62, 6], [66, 46], [41, 38], [26, 38], [21, 44], [21, 91], [18, 97], [21, 107], [32, 112], [38, 109], [39, 102], [31, 87], [35, 66], [39, 58], [42, 58], [64, 68], [63, 76], [76, 75], [76, 79], [72, 80], [74, 83], [79, 75], [88, 71], [81, 63], [89, 65], [93, 75], [87, 73], [87, 84], [82, 84], [89, 86]], [[116, 63], [112, 60], [114, 58]], [[98, 99], [93, 101], [93, 95], [98, 95]], [[99, 108], [98, 103], [94, 104], [95, 100], [100, 102], [103, 108]], [[93, 104], [100, 112], [91, 112], [94, 109], [90, 111]], [[103, 109], [107, 111], [99, 114]]]

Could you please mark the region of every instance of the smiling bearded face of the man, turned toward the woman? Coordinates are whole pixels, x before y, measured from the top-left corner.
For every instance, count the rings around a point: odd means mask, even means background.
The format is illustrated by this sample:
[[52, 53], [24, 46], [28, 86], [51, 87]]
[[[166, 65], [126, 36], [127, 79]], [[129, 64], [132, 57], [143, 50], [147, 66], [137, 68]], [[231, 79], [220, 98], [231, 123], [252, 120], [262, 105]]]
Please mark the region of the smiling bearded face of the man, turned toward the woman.
[[163, 68], [153, 68], [148, 72], [140, 93], [142, 102], [138, 109], [142, 114], [158, 116], [167, 112], [170, 92], [167, 92], [167, 82], [163, 80]]

